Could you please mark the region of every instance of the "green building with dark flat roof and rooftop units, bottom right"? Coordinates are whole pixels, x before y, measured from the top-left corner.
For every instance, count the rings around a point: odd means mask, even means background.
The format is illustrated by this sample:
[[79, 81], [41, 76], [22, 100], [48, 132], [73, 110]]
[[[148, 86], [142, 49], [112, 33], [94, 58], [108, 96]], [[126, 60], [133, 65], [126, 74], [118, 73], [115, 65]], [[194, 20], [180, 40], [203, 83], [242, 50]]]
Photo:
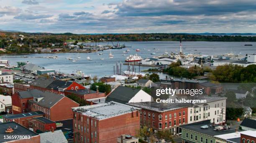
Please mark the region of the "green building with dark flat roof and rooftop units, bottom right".
[[236, 129], [215, 125], [210, 123], [210, 120], [187, 124], [180, 128], [182, 129], [182, 143], [226, 143], [226, 140], [215, 136], [236, 132]]

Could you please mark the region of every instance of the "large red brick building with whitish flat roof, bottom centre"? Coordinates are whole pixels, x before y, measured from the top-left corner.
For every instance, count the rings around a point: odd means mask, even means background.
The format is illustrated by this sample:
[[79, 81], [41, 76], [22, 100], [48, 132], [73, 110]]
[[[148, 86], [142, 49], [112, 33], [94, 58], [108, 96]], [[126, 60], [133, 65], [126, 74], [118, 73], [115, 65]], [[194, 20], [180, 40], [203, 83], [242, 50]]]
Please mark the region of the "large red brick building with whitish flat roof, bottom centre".
[[116, 143], [123, 134], [140, 128], [139, 108], [117, 102], [72, 108], [74, 142]]

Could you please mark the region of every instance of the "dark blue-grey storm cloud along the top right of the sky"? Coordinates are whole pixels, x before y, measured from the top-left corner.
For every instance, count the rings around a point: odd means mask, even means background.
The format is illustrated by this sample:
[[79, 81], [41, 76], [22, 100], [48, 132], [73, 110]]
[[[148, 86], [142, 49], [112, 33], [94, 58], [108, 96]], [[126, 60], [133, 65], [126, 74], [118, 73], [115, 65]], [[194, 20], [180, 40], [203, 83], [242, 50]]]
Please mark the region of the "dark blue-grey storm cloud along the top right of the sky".
[[[113, 3], [111, 3], [113, 5]], [[124, 0], [117, 3], [118, 15], [223, 15], [255, 11], [255, 0]]]

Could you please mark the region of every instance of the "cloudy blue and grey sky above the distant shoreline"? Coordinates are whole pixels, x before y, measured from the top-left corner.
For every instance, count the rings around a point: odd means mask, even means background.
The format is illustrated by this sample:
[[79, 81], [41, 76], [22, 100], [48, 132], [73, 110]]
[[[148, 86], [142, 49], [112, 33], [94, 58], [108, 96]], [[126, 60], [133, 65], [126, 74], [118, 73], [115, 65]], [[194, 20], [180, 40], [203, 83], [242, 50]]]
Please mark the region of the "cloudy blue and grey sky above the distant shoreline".
[[255, 0], [0, 0], [0, 30], [256, 33]]

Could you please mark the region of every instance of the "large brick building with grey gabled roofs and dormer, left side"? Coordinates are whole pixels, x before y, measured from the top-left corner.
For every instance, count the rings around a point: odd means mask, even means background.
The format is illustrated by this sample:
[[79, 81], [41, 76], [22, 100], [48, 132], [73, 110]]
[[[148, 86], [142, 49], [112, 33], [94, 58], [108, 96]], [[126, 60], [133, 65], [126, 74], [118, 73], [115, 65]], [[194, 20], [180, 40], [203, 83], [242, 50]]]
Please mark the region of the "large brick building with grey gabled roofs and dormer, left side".
[[72, 107], [79, 106], [78, 103], [51, 92], [43, 92], [37, 89], [20, 91], [12, 96], [13, 113], [26, 113], [29, 111], [41, 111], [45, 118], [52, 121], [73, 118]]

